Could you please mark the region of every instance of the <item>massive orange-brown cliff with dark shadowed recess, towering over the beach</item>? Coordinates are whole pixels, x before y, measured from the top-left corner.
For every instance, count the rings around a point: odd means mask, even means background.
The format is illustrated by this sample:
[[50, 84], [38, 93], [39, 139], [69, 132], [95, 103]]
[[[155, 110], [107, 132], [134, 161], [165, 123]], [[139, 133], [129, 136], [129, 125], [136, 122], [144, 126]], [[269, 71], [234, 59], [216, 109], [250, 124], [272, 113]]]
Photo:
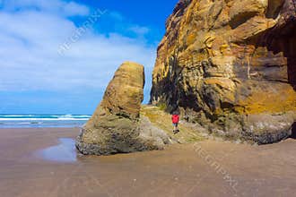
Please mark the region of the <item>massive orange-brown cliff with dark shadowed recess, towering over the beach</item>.
[[180, 0], [166, 23], [151, 102], [213, 133], [269, 143], [296, 120], [296, 1]]

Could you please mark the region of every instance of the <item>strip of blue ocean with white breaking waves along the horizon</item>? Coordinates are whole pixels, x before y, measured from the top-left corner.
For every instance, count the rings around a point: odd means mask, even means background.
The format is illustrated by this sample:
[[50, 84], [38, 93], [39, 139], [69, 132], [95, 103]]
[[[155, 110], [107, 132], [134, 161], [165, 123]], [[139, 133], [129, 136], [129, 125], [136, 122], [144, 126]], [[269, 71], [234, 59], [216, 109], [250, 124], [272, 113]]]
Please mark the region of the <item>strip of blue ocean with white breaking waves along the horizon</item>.
[[81, 127], [90, 115], [0, 115], [0, 128]]

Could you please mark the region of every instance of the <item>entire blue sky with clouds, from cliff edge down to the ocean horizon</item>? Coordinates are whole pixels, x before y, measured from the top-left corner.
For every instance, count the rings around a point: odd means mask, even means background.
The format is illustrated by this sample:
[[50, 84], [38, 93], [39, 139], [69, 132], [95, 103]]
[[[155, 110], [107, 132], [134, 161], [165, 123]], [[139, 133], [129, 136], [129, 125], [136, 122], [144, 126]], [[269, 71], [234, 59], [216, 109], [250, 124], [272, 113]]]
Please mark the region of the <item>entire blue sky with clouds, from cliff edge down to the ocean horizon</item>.
[[91, 114], [119, 64], [144, 64], [178, 0], [0, 0], [0, 114]]

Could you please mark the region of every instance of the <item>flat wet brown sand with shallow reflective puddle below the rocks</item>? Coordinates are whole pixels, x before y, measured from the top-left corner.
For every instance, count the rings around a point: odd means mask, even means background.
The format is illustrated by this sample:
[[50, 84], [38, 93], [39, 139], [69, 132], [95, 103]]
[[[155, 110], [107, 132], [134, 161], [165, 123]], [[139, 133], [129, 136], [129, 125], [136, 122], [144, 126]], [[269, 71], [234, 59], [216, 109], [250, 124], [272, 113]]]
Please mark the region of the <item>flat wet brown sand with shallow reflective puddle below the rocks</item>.
[[[296, 141], [82, 157], [78, 129], [1, 129], [0, 196], [295, 196]], [[52, 153], [57, 151], [57, 158]], [[65, 158], [60, 159], [60, 158]]]

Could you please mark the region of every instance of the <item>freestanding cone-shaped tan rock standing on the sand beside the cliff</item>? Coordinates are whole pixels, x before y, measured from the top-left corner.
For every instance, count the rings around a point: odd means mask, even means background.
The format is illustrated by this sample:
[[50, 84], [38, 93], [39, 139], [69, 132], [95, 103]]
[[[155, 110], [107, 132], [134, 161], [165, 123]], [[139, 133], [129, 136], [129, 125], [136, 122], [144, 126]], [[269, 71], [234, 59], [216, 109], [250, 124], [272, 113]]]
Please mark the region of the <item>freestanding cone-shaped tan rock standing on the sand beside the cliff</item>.
[[140, 119], [144, 66], [122, 64], [105, 91], [104, 98], [77, 137], [76, 147], [85, 155], [109, 155], [160, 150], [170, 137]]

